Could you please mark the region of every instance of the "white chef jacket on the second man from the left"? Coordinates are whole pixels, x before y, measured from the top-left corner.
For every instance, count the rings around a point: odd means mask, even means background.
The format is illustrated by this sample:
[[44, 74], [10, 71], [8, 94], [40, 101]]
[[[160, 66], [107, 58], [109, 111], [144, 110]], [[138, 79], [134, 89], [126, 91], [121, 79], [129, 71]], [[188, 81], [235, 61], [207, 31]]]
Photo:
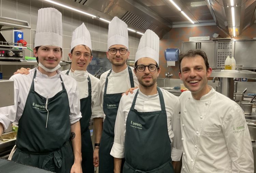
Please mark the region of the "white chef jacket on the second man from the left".
[[[66, 74], [68, 70], [61, 71], [61, 73]], [[69, 71], [69, 76], [73, 77], [76, 80], [77, 88], [79, 90], [79, 99], [87, 98], [89, 95], [88, 92], [88, 76], [91, 80], [91, 119], [93, 118], [102, 118], [103, 109], [101, 107], [101, 91], [100, 91], [100, 80], [97, 77], [94, 77], [87, 71], [85, 71], [84, 76], [74, 76], [73, 72]]]

